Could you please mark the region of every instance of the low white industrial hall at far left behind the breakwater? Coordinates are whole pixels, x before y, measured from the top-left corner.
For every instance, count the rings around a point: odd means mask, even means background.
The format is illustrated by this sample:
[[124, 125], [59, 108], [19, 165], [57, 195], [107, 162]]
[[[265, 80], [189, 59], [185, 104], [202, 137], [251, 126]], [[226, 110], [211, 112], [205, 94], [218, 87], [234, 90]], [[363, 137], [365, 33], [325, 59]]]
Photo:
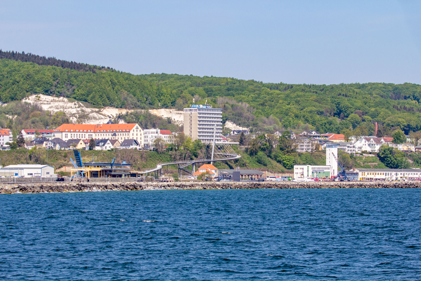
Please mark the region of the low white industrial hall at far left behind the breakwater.
[[54, 167], [41, 164], [9, 165], [0, 168], [3, 177], [56, 177]]

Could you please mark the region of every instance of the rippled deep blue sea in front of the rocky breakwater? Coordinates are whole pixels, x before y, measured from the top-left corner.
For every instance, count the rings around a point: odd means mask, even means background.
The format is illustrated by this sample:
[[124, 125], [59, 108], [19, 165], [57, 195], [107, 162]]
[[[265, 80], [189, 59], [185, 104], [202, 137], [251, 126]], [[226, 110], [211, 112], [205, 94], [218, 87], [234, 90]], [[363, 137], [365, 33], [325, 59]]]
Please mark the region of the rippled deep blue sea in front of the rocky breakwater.
[[421, 189], [0, 195], [4, 280], [420, 280]]

